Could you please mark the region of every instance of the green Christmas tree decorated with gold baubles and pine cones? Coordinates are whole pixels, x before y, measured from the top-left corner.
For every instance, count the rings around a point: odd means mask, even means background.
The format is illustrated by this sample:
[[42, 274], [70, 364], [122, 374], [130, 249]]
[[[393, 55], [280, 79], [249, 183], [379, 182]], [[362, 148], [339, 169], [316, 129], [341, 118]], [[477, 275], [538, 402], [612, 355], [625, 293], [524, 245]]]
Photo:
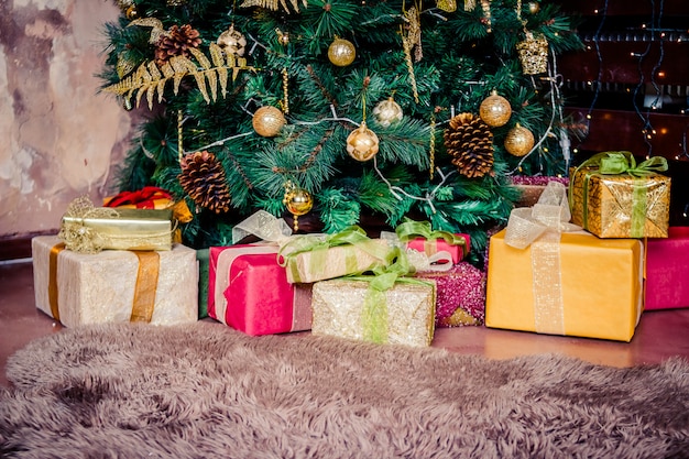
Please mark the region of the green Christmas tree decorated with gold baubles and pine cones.
[[103, 91], [150, 110], [119, 187], [186, 199], [185, 242], [229, 244], [256, 209], [302, 231], [472, 237], [506, 221], [511, 176], [565, 174], [545, 1], [118, 0]]

